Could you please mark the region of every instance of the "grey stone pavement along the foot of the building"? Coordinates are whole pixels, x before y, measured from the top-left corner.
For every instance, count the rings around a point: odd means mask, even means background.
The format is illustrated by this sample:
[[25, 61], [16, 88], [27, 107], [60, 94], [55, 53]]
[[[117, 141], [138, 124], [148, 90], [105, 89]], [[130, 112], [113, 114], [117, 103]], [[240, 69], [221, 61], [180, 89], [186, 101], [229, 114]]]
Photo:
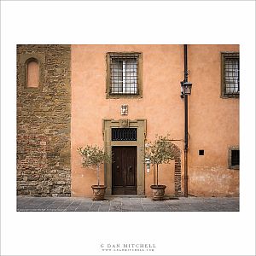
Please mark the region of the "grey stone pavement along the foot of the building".
[[179, 197], [153, 201], [148, 197], [17, 197], [18, 212], [239, 212], [239, 198]]

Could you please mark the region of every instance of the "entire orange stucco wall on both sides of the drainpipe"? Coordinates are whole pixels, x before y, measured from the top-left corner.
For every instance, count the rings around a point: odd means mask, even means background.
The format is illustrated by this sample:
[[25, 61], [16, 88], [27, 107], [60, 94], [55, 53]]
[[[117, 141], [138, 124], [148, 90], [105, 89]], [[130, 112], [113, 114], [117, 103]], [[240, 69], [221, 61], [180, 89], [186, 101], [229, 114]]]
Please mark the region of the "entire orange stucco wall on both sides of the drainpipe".
[[[238, 145], [238, 100], [221, 99], [220, 51], [237, 45], [189, 45], [189, 194], [237, 195], [239, 171], [227, 169], [227, 148]], [[106, 53], [143, 54], [143, 97], [106, 98]], [[102, 119], [121, 119], [120, 106], [128, 104], [127, 119], [147, 119], [147, 140], [169, 133], [183, 139], [183, 45], [72, 45], [72, 193], [91, 196], [96, 172], [81, 167], [76, 148], [103, 147]], [[230, 132], [229, 132], [230, 131]], [[183, 150], [183, 143], [177, 142]], [[205, 155], [199, 156], [198, 150]], [[182, 157], [183, 158], [183, 157]], [[182, 166], [183, 169], [183, 166]], [[183, 173], [183, 170], [182, 170]], [[101, 172], [102, 183], [103, 170]], [[160, 181], [174, 194], [174, 162], [162, 166]], [[152, 169], [145, 172], [145, 194], [150, 195]], [[216, 192], [216, 193], [215, 193]]]

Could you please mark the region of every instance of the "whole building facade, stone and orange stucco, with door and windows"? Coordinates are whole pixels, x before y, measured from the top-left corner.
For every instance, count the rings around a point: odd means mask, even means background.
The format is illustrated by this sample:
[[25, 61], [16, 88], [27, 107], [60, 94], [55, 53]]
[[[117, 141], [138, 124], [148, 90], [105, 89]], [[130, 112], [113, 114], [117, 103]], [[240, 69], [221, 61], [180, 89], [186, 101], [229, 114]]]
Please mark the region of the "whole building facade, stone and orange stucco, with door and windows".
[[[151, 195], [143, 148], [170, 134], [166, 194], [184, 195], [183, 45], [18, 45], [17, 195], [88, 196], [77, 148], [113, 154], [107, 194]], [[188, 193], [239, 195], [239, 45], [188, 45]]]

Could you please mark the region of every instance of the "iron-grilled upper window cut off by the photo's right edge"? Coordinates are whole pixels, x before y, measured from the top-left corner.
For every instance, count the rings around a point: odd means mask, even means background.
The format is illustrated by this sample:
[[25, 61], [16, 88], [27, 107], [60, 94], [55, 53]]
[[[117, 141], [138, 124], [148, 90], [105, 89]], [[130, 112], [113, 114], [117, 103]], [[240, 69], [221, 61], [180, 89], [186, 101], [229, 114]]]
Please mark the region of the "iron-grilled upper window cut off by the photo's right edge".
[[238, 97], [239, 84], [239, 53], [222, 53], [222, 96]]

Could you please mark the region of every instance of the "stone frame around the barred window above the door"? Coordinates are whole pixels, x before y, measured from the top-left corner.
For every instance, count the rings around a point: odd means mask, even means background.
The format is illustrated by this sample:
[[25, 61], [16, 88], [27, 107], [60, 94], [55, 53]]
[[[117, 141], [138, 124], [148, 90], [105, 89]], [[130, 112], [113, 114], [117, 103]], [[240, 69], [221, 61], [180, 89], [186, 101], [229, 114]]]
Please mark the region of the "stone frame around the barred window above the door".
[[[110, 59], [111, 55], [138, 55], [137, 56], [137, 94], [112, 94], [110, 92]], [[108, 52], [106, 54], [107, 63], [107, 75], [106, 75], [106, 98], [107, 99], [119, 99], [119, 98], [142, 98], [143, 97], [143, 53], [142, 52]]]

